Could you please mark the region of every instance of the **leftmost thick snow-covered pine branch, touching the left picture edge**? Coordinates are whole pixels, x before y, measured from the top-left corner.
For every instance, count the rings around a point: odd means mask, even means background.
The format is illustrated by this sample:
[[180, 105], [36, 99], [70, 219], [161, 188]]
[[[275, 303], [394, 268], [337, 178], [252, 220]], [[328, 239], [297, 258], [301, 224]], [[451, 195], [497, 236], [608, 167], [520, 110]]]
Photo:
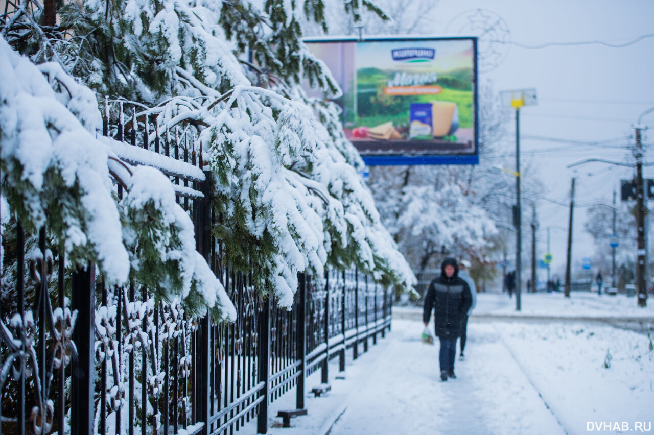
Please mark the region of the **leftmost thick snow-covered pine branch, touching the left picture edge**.
[[[108, 151], [89, 131], [95, 125], [85, 127], [72, 111], [89, 108], [84, 101], [90, 90], [69, 86], [56, 93], [43, 73], [4, 39], [0, 63], [0, 170], [12, 211], [31, 233], [47, 220], [74, 264], [94, 261], [112, 282], [126, 282], [129, 259], [120, 242]], [[53, 80], [54, 69], [49, 69]], [[93, 109], [99, 121], [97, 107]], [[83, 119], [92, 123], [83, 111]]]

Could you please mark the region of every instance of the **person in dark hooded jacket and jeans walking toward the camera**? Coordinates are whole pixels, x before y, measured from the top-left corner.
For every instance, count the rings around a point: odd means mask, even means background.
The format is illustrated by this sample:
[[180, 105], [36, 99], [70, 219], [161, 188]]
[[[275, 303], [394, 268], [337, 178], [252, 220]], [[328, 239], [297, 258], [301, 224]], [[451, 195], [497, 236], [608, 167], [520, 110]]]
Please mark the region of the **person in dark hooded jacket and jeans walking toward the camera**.
[[461, 334], [462, 321], [470, 306], [470, 287], [459, 278], [456, 259], [446, 258], [441, 265], [441, 275], [429, 284], [422, 308], [422, 322], [425, 326], [434, 311], [434, 331], [441, 343], [439, 364], [442, 381], [447, 381], [447, 378], [456, 379], [456, 338]]

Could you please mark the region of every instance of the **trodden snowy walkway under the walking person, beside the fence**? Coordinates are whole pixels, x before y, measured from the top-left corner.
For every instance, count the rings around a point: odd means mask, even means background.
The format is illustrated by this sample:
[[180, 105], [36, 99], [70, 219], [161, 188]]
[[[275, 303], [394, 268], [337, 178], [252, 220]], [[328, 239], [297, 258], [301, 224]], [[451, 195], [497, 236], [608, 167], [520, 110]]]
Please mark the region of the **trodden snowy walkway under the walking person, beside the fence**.
[[419, 341], [421, 325], [393, 322], [393, 332], [360, 364], [365, 378], [330, 434], [563, 434], [538, 391], [491, 325], [470, 325], [458, 379], [441, 382], [438, 344]]

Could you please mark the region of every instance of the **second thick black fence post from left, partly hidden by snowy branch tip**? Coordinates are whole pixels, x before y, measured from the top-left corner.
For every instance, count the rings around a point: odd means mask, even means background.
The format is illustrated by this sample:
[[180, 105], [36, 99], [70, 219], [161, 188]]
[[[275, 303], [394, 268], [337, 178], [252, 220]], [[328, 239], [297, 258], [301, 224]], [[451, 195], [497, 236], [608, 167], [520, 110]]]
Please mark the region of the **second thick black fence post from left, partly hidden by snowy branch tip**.
[[[211, 253], [211, 172], [203, 171], [205, 180], [198, 182], [196, 190], [203, 193], [204, 197], [196, 199], [193, 203], [194, 222], [196, 225], [196, 249], [202, 257], [209, 262]], [[194, 423], [205, 423], [200, 431], [202, 435], [209, 434], [209, 387], [211, 383], [211, 334], [209, 325], [211, 319], [209, 313], [199, 319], [196, 330], [194, 347]]]

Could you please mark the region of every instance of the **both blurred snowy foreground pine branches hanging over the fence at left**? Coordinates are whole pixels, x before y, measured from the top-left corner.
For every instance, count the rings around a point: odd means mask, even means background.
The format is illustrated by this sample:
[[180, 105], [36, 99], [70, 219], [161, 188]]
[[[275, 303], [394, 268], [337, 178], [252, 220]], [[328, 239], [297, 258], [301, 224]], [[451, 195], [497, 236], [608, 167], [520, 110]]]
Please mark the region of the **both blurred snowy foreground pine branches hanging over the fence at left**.
[[[3, 204], [6, 195], [31, 233], [47, 223], [73, 265], [93, 261], [110, 283], [131, 276], [165, 300], [181, 298], [192, 314], [211, 309], [218, 319], [235, 319], [195, 250], [193, 223], [171, 182], [159, 170], [121, 162], [111, 139], [92, 135], [101, 120], [92, 91], [55, 63], [36, 67], [5, 40], [0, 62], [8, 65], [0, 71]], [[110, 172], [128, 190], [119, 204]]]

